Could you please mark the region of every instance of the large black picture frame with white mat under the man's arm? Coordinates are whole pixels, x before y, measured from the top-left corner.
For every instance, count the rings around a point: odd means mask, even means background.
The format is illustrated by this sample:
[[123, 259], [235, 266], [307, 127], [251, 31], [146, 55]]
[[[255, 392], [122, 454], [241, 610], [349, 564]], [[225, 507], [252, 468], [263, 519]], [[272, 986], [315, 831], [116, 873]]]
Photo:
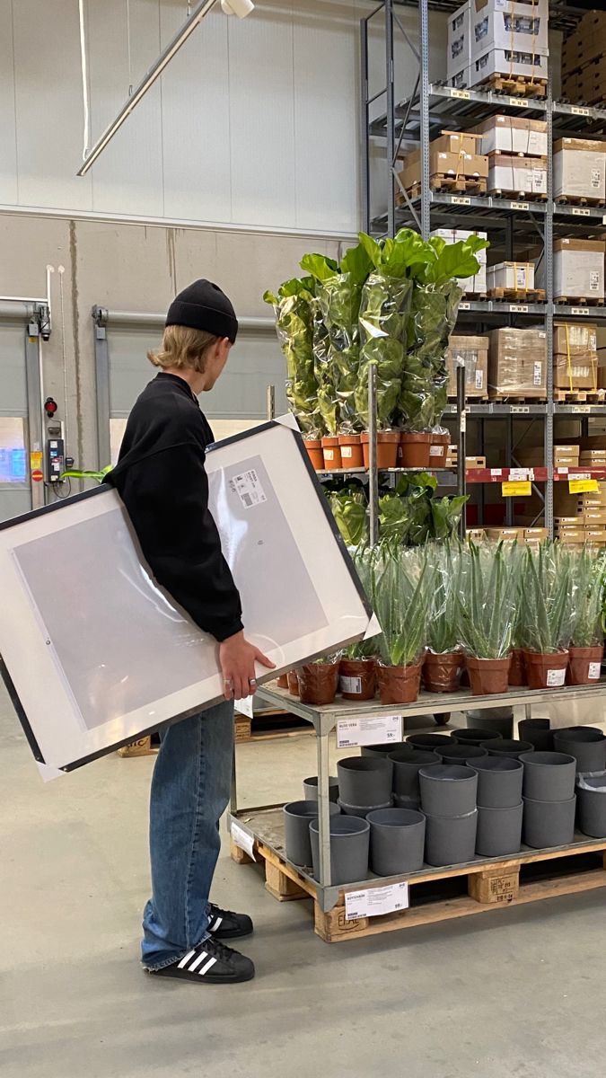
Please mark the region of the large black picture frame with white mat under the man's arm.
[[[248, 639], [278, 672], [360, 639], [371, 610], [301, 436], [264, 424], [206, 470]], [[41, 764], [70, 771], [221, 699], [217, 641], [154, 581], [109, 486], [0, 524], [0, 594], [2, 675]]]

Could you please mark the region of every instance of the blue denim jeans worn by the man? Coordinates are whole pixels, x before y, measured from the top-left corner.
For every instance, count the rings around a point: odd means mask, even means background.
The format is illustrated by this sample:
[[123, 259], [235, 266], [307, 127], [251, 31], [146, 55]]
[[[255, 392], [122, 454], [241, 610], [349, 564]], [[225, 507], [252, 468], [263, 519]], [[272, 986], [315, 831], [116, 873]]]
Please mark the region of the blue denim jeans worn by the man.
[[208, 936], [219, 820], [230, 800], [234, 705], [224, 701], [161, 735], [150, 799], [152, 897], [141, 960], [161, 969]]

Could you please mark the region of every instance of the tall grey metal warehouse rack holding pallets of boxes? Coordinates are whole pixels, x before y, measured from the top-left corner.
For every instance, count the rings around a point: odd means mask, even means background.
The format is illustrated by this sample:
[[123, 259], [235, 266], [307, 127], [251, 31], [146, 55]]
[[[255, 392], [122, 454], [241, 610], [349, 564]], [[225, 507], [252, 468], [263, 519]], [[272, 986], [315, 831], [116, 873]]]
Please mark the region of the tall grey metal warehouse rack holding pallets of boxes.
[[[402, 6], [418, 10], [418, 36], [413, 41], [400, 18]], [[364, 229], [374, 235], [394, 236], [399, 227], [416, 229], [427, 239], [432, 227], [444, 223], [453, 227], [478, 227], [502, 236], [505, 259], [513, 261], [515, 246], [540, 241], [545, 260], [546, 302], [507, 303], [495, 300], [468, 300], [459, 307], [458, 324], [474, 323], [476, 332], [495, 326], [520, 327], [541, 322], [547, 336], [547, 400], [545, 403], [509, 404], [507, 402], [468, 403], [460, 387], [457, 404], [449, 405], [445, 416], [457, 425], [459, 457], [465, 454], [467, 420], [479, 424], [480, 453], [484, 446], [484, 421], [499, 418], [505, 421], [505, 448], [507, 459], [515, 464], [514, 419], [543, 423], [545, 475], [536, 481], [541, 484], [545, 501], [545, 523], [553, 537], [553, 482], [559, 476], [553, 469], [553, 427], [557, 416], [575, 416], [581, 424], [581, 433], [588, 433], [590, 417], [606, 418], [606, 405], [601, 403], [560, 403], [554, 400], [553, 387], [553, 321], [559, 318], [598, 321], [606, 323], [605, 306], [583, 304], [554, 304], [553, 292], [553, 239], [554, 236], [582, 236], [602, 234], [606, 225], [606, 205], [571, 206], [553, 199], [553, 139], [564, 136], [586, 135], [591, 138], [606, 133], [606, 109], [570, 105], [553, 99], [552, 75], [548, 71], [545, 97], [518, 97], [490, 88], [457, 89], [443, 83], [429, 81], [429, 11], [452, 13], [460, 6], [459, 0], [419, 0], [418, 3], [381, 0], [374, 11], [361, 19], [361, 134], [362, 134], [362, 206]], [[570, 32], [584, 12], [565, 2], [550, 3], [550, 28]], [[384, 36], [384, 68], [381, 88], [371, 94], [371, 60], [369, 40], [371, 32]], [[414, 67], [414, 88], [402, 101], [396, 100], [396, 41], [403, 40], [407, 56]], [[410, 67], [409, 69], [410, 70]], [[384, 111], [374, 115], [374, 110]], [[432, 191], [429, 177], [429, 142], [443, 129], [465, 130], [494, 115], [505, 112], [540, 119], [547, 123], [547, 198], [545, 201], [513, 199], [495, 195], [450, 194]], [[398, 158], [402, 147], [421, 146], [421, 193], [410, 197], [398, 176]], [[381, 168], [376, 176], [375, 151], [380, 149]], [[372, 162], [372, 168], [371, 168]], [[375, 182], [381, 188], [381, 201], [386, 210], [372, 213]], [[460, 378], [459, 381], [463, 381]], [[536, 472], [537, 470], [535, 470]], [[592, 474], [583, 469], [583, 474]], [[459, 493], [465, 493], [460, 482]], [[598, 478], [597, 475], [595, 478]], [[483, 482], [468, 476], [467, 481]], [[541, 493], [535, 488], [537, 493]], [[513, 523], [511, 499], [506, 501], [506, 523]], [[480, 523], [483, 523], [482, 521]]]

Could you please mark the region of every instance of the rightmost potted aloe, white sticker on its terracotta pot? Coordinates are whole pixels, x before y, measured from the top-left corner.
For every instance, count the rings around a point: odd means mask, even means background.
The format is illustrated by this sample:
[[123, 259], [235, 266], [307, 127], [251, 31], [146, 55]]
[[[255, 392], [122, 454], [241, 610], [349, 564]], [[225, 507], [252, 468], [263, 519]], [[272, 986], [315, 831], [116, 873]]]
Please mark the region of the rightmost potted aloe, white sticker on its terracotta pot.
[[578, 554], [571, 552], [570, 557], [577, 595], [566, 685], [590, 685], [600, 679], [604, 657], [602, 608], [606, 558], [604, 554], [596, 557], [588, 548]]

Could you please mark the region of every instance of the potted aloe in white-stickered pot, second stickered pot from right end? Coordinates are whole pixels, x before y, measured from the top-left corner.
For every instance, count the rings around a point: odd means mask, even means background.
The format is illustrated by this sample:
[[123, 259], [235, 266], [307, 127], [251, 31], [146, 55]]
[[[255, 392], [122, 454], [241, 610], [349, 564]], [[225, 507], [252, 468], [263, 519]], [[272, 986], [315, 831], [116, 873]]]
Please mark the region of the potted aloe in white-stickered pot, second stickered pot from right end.
[[570, 551], [546, 540], [526, 548], [520, 591], [520, 639], [531, 689], [564, 685], [577, 586]]

